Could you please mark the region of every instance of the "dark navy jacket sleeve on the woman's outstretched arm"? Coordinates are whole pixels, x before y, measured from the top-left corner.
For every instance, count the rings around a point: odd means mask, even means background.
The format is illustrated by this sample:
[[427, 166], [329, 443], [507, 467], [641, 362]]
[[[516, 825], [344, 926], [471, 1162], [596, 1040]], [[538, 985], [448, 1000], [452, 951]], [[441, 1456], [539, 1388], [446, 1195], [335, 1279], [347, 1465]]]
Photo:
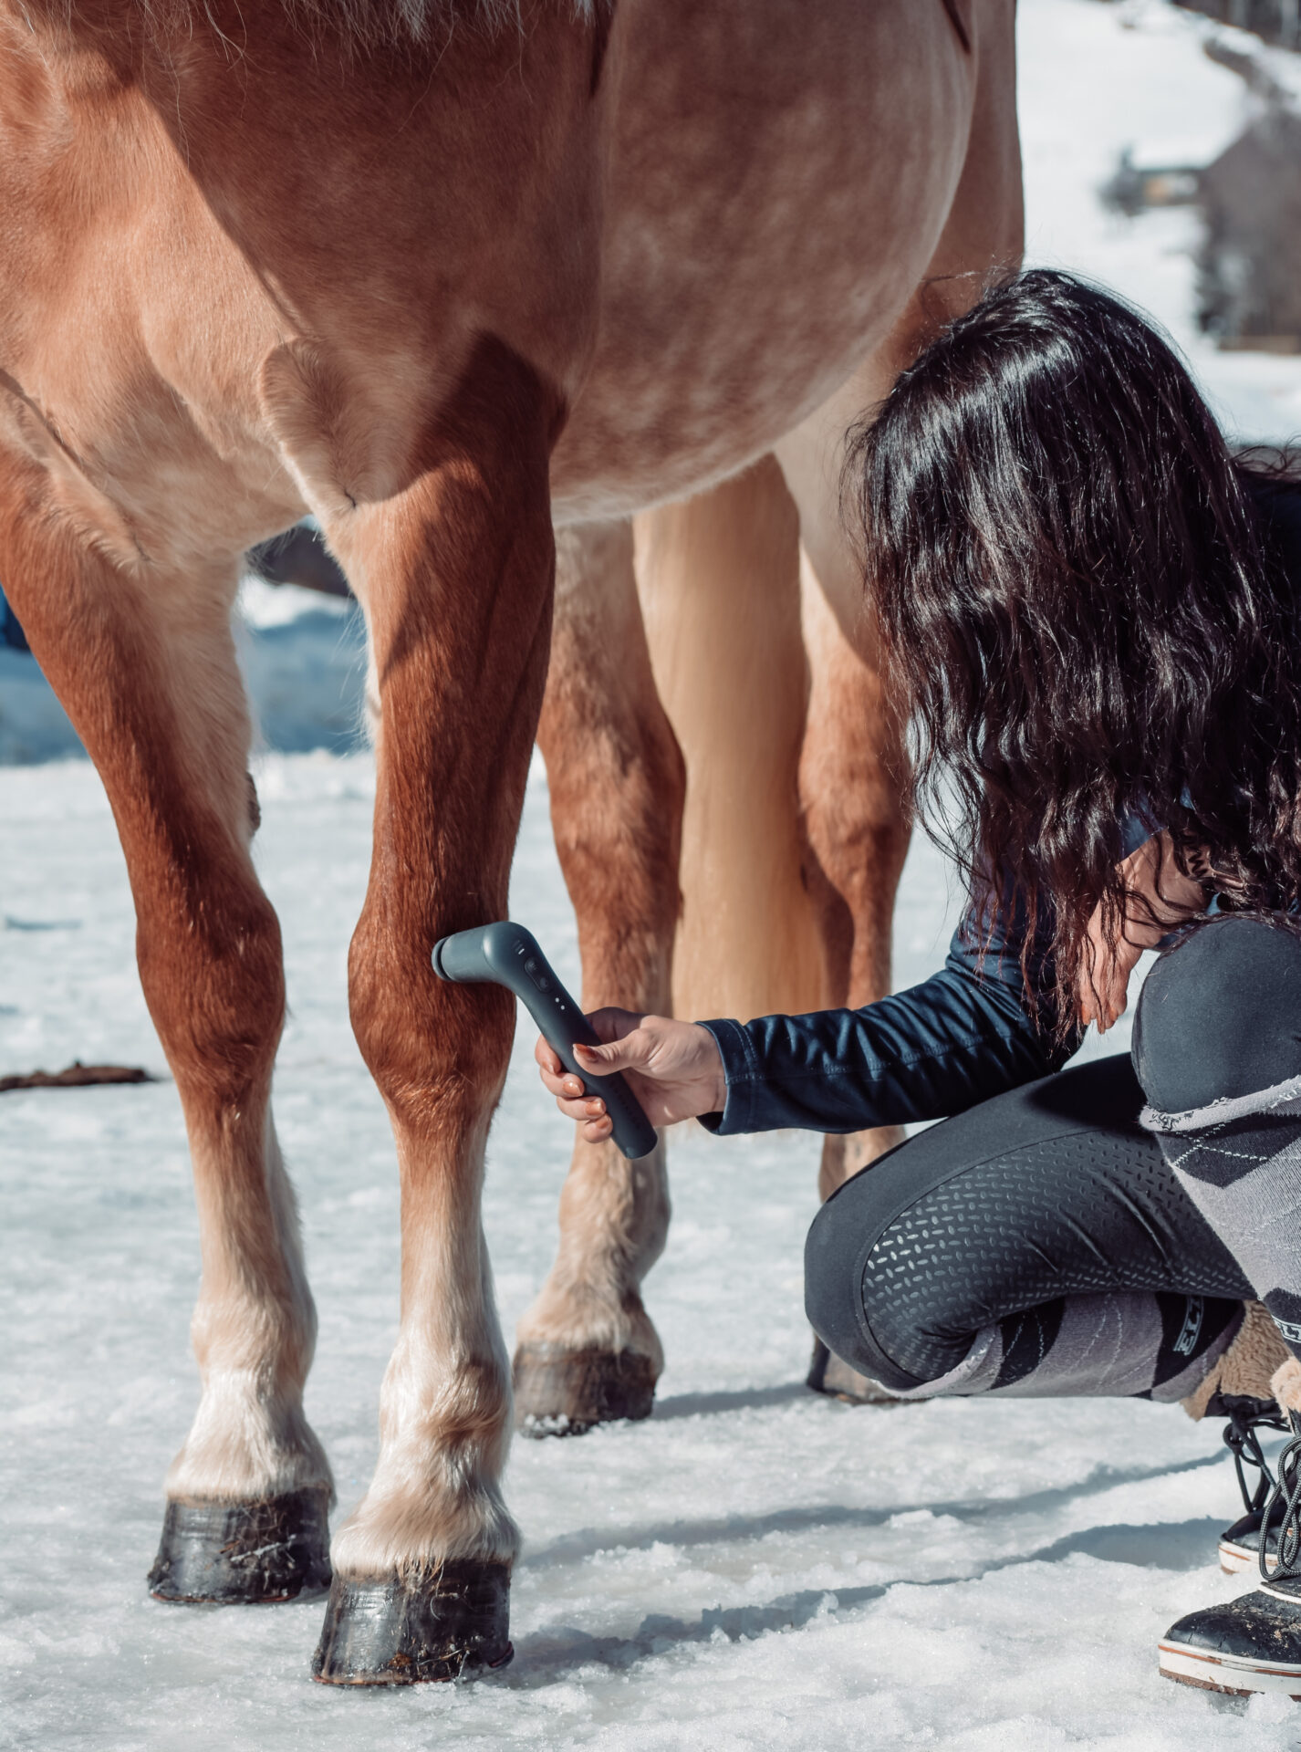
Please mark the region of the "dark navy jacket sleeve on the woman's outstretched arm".
[[1051, 937], [1044, 922], [1026, 957], [1038, 1018], [1021, 967], [1024, 911], [1014, 902], [988, 934], [968, 911], [940, 972], [863, 1009], [706, 1021], [723, 1055], [727, 1106], [702, 1125], [730, 1135], [942, 1120], [1059, 1070], [1082, 1030], [1056, 1034]]

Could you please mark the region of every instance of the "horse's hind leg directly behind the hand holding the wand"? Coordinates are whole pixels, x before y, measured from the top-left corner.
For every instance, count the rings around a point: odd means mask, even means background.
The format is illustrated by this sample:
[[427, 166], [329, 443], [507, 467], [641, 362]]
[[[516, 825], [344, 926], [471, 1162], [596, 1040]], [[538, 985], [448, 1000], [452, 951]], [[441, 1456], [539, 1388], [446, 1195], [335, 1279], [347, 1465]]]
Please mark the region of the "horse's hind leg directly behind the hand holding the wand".
[[[583, 953], [583, 1009], [669, 1009], [685, 774], [646, 650], [632, 529], [557, 538], [552, 664], [538, 741]], [[517, 1421], [578, 1433], [646, 1417], [664, 1354], [641, 1281], [669, 1226], [664, 1141], [641, 1162], [574, 1144], [560, 1249], [520, 1321]]]

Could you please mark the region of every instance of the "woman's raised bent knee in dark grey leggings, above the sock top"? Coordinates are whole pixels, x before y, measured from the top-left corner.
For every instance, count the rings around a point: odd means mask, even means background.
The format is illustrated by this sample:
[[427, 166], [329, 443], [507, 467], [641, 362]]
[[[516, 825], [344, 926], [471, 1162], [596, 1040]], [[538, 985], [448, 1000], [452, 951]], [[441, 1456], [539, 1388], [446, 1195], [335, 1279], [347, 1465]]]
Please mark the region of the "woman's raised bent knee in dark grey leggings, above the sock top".
[[1301, 1072], [1301, 937], [1215, 918], [1143, 983], [1133, 1058], [1152, 1107], [1187, 1113]]

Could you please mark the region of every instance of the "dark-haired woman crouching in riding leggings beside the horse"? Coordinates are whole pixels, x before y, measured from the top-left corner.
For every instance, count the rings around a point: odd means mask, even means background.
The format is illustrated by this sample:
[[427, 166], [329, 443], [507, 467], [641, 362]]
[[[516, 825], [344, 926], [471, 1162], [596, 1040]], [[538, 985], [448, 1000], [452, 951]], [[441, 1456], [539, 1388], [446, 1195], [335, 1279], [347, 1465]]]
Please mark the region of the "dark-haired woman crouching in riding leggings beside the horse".
[[[1142, 317], [1047, 272], [851, 454], [916, 804], [970, 885], [947, 964], [861, 1011], [601, 1011], [576, 1053], [660, 1125], [944, 1120], [807, 1240], [816, 1332], [891, 1393], [1182, 1400], [1248, 1451], [1287, 1419], [1222, 1544], [1259, 1589], [1180, 1619], [1161, 1670], [1301, 1694], [1301, 491], [1229, 454]], [[1133, 1051], [1063, 1070], [1157, 944]]]

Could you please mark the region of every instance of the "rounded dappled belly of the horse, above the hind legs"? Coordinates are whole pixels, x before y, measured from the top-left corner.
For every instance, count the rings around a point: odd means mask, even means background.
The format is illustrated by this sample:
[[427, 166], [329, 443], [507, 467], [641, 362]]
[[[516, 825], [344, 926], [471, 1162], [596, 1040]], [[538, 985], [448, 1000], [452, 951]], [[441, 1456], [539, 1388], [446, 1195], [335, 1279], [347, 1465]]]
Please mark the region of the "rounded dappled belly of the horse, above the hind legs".
[[557, 520], [763, 454], [877, 345], [961, 172], [972, 67], [940, 0], [634, 0], [592, 371]]

